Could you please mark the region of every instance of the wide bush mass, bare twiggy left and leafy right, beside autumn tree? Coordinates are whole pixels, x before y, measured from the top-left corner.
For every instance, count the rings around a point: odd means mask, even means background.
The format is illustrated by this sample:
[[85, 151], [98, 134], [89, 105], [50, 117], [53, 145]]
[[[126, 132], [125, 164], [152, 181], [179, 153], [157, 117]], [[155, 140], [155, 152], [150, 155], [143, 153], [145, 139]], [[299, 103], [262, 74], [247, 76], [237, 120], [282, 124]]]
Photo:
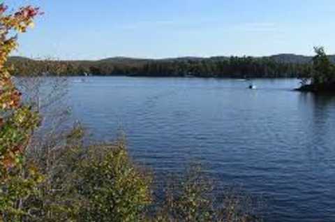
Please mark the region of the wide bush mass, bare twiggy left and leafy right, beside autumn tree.
[[31, 201], [37, 221], [142, 221], [151, 177], [132, 163], [121, 140], [84, 146], [83, 133], [76, 126], [64, 147], [45, 156], [42, 192]]

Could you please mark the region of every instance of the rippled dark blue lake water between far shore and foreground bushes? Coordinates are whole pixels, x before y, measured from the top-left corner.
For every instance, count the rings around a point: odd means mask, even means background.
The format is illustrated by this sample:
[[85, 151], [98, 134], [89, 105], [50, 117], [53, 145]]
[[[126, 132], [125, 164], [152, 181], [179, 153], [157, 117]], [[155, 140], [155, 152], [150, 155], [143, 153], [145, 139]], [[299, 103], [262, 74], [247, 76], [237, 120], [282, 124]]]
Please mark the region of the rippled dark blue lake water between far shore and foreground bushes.
[[70, 79], [73, 114], [96, 140], [126, 133], [159, 175], [200, 161], [267, 201], [267, 221], [335, 221], [335, 97], [297, 80]]

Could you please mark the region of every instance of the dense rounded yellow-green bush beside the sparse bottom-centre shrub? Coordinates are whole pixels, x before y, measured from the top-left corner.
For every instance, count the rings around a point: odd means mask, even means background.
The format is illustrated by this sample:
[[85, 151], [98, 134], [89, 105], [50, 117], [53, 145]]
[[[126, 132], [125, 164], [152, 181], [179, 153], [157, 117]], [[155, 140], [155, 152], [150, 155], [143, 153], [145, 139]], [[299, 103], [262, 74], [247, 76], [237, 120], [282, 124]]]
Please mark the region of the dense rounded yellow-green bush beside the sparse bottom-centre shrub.
[[77, 177], [77, 190], [86, 200], [80, 221], [140, 221], [151, 201], [151, 179], [131, 163], [122, 142], [89, 147]]

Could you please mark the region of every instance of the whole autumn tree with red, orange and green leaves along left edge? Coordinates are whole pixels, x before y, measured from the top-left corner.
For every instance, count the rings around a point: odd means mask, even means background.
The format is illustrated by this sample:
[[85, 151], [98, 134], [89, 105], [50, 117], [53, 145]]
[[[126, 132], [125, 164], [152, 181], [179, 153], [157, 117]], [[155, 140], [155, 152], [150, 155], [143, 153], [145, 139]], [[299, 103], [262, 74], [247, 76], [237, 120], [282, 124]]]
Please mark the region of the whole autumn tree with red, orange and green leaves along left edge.
[[17, 47], [17, 34], [33, 27], [38, 8], [22, 7], [16, 13], [6, 13], [0, 4], [0, 221], [24, 221], [31, 216], [24, 202], [37, 192], [41, 181], [38, 170], [24, 161], [31, 133], [39, 117], [21, 101], [21, 93], [13, 83], [13, 68], [6, 61]]

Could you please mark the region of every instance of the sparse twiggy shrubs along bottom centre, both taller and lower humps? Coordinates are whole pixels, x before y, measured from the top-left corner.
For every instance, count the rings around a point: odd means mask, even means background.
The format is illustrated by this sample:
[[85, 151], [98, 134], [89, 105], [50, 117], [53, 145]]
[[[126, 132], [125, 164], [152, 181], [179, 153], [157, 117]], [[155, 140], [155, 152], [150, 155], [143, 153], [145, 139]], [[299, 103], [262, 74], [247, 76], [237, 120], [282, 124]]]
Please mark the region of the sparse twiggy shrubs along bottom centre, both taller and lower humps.
[[191, 165], [184, 175], [168, 184], [163, 205], [154, 222], [257, 222], [262, 221], [260, 201], [237, 189], [214, 191], [214, 182], [199, 165]]

